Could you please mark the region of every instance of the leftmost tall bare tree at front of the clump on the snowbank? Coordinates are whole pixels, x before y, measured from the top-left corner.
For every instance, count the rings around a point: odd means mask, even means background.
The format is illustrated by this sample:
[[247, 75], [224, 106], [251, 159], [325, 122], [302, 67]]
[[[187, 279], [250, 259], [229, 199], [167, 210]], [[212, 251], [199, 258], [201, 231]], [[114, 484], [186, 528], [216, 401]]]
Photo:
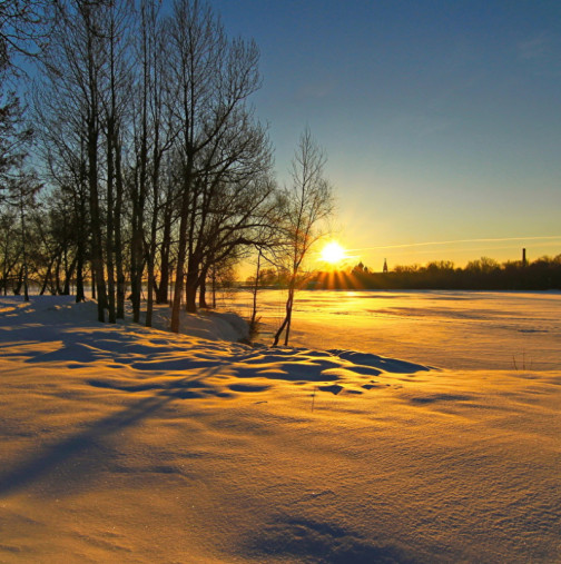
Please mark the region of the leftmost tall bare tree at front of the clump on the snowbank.
[[[107, 145], [107, 118], [111, 116], [111, 2], [109, 0], [68, 0], [56, 2], [57, 21], [50, 38], [49, 52], [45, 58], [47, 75], [46, 90], [51, 92], [38, 112], [47, 112], [46, 125], [67, 121], [72, 145], [58, 148], [70, 149], [72, 175], [83, 186], [89, 217], [89, 253], [91, 271], [98, 299], [98, 319], [105, 320], [108, 305], [106, 285], [106, 253], [104, 245], [107, 224], [105, 206], [107, 190], [102, 180], [115, 175], [104, 175], [104, 141]], [[109, 10], [109, 12], [108, 12]], [[109, 90], [108, 90], [109, 85]], [[109, 95], [108, 95], [109, 91]], [[105, 133], [105, 135], [104, 135]], [[111, 141], [114, 136], [110, 136]], [[106, 147], [107, 149], [107, 147]], [[115, 151], [110, 151], [111, 162]], [[68, 162], [69, 156], [65, 155]], [[107, 187], [106, 187], [107, 188]], [[112, 210], [111, 210], [112, 211]], [[110, 220], [112, 236], [112, 218]]]

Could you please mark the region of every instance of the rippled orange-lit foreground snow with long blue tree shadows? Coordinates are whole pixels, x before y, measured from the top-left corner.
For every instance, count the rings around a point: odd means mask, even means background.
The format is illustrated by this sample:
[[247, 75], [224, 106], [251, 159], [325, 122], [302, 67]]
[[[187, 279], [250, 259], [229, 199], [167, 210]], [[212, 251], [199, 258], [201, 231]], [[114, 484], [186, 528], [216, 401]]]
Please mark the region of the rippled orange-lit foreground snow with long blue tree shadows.
[[[558, 330], [559, 297], [537, 307]], [[538, 340], [531, 368], [440, 369], [216, 340], [233, 316], [95, 318], [0, 298], [0, 562], [561, 562], [561, 369]]]

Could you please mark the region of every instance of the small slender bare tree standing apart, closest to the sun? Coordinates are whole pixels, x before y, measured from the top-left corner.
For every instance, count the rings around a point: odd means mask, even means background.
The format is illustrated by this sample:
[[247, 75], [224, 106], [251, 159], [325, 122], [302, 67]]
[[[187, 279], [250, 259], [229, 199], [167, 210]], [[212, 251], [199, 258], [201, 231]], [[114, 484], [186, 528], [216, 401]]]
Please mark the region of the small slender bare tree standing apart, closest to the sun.
[[285, 346], [291, 334], [294, 297], [304, 260], [312, 246], [325, 235], [322, 221], [333, 211], [333, 194], [324, 178], [326, 157], [312, 138], [308, 128], [301, 136], [292, 165], [292, 187], [284, 190], [285, 216], [282, 231], [285, 237], [285, 264], [289, 273], [286, 314], [275, 334], [278, 345], [285, 332]]

